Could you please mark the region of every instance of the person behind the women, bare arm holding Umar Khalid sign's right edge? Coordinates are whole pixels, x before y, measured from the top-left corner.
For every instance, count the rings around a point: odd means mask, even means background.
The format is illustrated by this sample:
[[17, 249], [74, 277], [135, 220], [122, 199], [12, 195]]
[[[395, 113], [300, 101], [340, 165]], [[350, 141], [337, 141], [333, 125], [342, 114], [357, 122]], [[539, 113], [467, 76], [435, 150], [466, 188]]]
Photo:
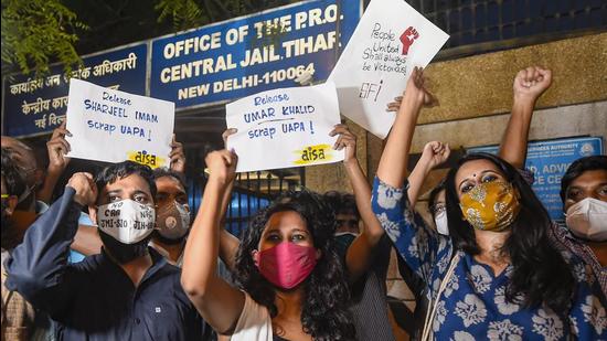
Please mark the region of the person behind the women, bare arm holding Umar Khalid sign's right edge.
[[344, 150], [343, 167], [354, 192], [323, 196], [336, 214], [336, 244], [349, 275], [356, 338], [395, 340], [385, 281], [391, 242], [371, 210], [371, 188], [356, 159], [356, 137], [345, 125], [337, 125], [330, 135], [339, 136], [334, 148]]

